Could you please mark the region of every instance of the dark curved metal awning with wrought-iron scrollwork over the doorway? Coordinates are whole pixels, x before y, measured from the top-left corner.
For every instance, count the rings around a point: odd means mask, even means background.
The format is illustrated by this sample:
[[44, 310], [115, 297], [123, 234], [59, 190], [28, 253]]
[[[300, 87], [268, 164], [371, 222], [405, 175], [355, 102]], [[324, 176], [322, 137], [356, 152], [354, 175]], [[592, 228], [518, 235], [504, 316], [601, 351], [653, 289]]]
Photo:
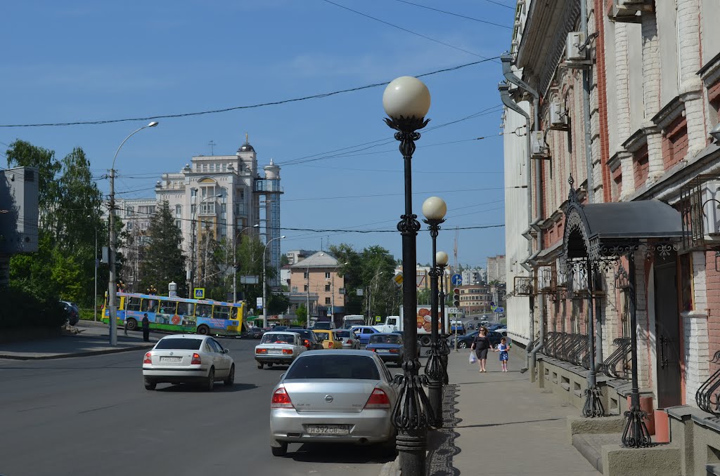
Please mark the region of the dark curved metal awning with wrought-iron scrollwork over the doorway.
[[680, 212], [659, 200], [582, 205], [572, 187], [564, 206], [564, 260], [615, 260], [658, 239], [652, 251], [669, 254], [683, 237]]

